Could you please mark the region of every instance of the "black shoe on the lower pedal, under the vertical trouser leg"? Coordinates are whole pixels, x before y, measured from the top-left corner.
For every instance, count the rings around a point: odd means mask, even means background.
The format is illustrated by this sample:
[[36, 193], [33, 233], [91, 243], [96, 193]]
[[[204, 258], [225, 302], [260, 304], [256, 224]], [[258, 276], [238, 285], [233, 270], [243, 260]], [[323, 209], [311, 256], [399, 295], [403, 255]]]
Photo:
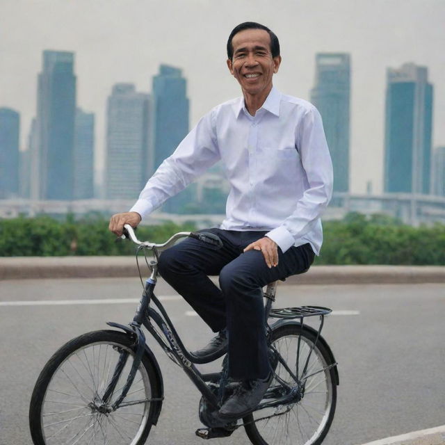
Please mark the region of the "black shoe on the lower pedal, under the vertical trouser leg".
[[225, 401], [218, 414], [226, 419], [239, 419], [252, 412], [261, 402], [272, 381], [273, 373], [265, 379], [247, 380], [238, 385]]

